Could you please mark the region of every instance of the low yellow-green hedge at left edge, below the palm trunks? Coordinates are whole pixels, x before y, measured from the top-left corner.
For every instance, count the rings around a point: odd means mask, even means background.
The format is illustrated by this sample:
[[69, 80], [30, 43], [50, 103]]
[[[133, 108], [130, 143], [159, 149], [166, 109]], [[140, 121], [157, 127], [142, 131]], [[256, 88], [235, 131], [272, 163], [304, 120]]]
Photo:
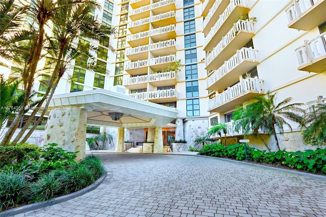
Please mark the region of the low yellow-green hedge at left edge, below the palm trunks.
[[33, 144], [24, 143], [22, 145], [17, 144], [16, 146], [0, 146], [0, 168], [5, 165], [11, 165], [13, 161], [18, 163], [40, 158], [40, 148]]

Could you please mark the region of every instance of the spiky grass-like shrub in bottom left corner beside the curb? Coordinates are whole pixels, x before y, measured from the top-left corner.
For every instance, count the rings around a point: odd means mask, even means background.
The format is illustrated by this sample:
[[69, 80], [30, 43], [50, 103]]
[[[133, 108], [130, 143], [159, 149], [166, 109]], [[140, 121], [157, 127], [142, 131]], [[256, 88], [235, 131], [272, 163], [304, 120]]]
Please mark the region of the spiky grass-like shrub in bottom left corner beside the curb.
[[14, 170], [0, 172], [0, 211], [19, 204], [25, 199], [28, 181], [25, 174]]

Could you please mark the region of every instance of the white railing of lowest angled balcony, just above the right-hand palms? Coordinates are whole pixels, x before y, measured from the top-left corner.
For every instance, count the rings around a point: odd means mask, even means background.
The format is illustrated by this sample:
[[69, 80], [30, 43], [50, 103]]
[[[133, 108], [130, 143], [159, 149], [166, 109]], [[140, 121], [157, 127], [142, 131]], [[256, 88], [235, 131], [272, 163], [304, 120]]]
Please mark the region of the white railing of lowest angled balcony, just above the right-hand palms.
[[208, 101], [208, 109], [211, 110], [211, 108], [219, 107], [248, 91], [258, 91], [258, 93], [264, 92], [264, 81], [257, 77], [243, 79], [238, 84], [228, 87], [226, 91], [216, 94], [214, 98], [210, 99]]

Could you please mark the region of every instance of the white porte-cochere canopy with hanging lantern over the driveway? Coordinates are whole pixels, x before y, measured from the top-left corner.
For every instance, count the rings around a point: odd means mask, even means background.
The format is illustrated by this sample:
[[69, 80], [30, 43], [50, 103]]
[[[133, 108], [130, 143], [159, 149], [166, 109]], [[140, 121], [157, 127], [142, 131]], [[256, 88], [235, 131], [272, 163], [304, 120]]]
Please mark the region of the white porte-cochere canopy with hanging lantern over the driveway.
[[[164, 127], [173, 121], [176, 108], [135, 99], [108, 90], [80, 91], [52, 97], [49, 107], [80, 105], [87, 110], [87, 124], [145, 128]], [[113, 120], [109, 113], [121, 113], [119, 120]]]

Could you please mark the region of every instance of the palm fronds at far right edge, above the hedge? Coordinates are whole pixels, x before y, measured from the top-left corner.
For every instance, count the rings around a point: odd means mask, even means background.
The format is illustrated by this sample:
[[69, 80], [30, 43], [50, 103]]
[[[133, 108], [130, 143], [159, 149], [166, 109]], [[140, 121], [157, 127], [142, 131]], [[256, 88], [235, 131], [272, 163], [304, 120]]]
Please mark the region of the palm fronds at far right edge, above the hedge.
[[326, 104], [317, 104], [305, 116], [304, 142], [310, 145], [326, 145]]

